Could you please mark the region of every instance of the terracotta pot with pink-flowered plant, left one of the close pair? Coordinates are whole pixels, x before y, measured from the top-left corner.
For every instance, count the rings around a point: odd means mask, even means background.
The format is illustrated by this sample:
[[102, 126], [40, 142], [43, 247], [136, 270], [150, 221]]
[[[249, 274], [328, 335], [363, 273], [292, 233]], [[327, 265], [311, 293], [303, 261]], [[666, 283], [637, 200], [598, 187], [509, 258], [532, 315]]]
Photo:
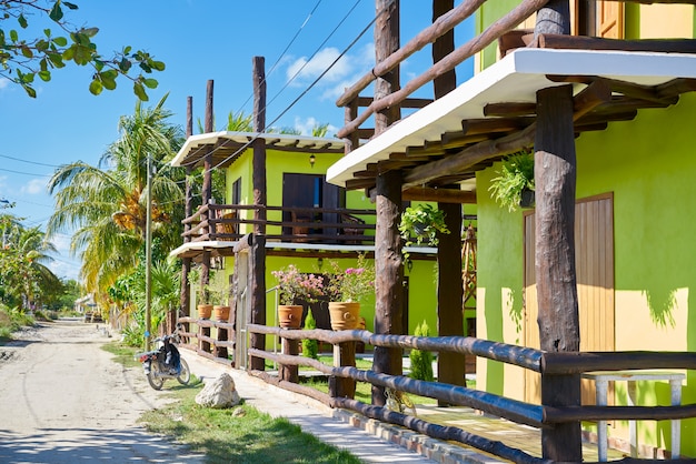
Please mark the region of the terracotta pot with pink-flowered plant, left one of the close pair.
[[271, 272], [278, 280], [280, 305], [278, 321], [281, 327], [299, 329], [302, 319], [302, 305], [295, 304], [296, 300], [316, 301], [324, 294], [324, 279], [315, 274], [301, 273], [295, 264]]

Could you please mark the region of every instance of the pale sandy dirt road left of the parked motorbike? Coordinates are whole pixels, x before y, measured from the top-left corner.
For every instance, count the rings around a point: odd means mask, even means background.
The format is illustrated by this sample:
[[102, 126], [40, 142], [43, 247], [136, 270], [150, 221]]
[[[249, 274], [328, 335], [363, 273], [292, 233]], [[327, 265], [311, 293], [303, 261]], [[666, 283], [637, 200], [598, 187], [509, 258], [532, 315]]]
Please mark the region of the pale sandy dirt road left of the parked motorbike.
[[100, 349], [102, 325], [44, 323], [0, 346], [0, 463], [200, 463], [137, 420], [165, 404], [140, 370]]

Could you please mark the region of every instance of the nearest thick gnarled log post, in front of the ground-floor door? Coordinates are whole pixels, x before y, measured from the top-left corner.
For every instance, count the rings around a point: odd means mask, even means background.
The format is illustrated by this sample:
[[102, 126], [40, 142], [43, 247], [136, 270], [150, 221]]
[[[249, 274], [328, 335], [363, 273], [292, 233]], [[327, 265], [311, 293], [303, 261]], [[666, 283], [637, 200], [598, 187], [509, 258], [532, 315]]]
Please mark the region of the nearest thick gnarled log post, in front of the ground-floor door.
[[[537, 92], [535, 139], [536, 280], [541, 350], [580, 349], [575, 274], [575, 135], [573, 88], [553, 87]], [[543, 375], [541, 403], [579, 406], [579, 374]], [[541, 431], [545, 458], [580, 462], [580, 423], [558, 424]]]

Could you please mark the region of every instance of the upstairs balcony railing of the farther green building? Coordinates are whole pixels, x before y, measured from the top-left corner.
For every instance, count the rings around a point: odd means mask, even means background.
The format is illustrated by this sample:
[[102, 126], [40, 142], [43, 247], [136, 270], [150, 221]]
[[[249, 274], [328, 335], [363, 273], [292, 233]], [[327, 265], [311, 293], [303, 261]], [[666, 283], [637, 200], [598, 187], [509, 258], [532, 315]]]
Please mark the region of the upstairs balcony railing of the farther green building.
[[[253, 219], [257, 210], [266, 211], [266, 220]], [[182, 222], [188, 225], [185, 242], [233, 242], [251, 233], [256, 224], [264, 224], [267, 241], [375, 244], [374, 210], [208, 204]]]

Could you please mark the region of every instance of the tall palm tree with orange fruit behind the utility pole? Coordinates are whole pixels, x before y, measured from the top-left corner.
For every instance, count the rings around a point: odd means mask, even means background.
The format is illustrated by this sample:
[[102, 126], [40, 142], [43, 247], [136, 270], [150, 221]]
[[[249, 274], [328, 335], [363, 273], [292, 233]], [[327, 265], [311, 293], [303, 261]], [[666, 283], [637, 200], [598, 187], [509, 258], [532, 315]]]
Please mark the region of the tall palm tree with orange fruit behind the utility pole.
[[74, 230], [71, 252], [82, 260], [81, 276], [88, 291], [103, 293], [119, 275], [138, 263], [147, 222], [147, 159], [152, 174], [153, 235], [163, 246], [178, 245], [183, 211], [183, 173], [167, 162], [179, 150], [182, 132], [167, 119], [162, 107], [136, 103], [132, 115], [121, 117], [119, 139], [102, 154], [99, 165], [81, 161], [60, 167], [49, 181], [56, 193], [56, 212], [47, 233]]

